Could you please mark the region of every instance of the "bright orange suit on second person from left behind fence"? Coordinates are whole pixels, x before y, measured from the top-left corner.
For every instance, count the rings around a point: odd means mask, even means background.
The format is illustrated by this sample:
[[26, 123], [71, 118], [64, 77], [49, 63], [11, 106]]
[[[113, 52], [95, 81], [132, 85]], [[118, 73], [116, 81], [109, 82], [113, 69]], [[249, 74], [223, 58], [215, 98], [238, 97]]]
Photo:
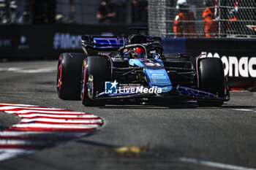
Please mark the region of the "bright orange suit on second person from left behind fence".
[[214, 34], [219, 33], [219, 23], [215, 20], [214, 13], [209, 8], [203, 11], [203, 23], [205, 25], [206, 37], [214, 37]]

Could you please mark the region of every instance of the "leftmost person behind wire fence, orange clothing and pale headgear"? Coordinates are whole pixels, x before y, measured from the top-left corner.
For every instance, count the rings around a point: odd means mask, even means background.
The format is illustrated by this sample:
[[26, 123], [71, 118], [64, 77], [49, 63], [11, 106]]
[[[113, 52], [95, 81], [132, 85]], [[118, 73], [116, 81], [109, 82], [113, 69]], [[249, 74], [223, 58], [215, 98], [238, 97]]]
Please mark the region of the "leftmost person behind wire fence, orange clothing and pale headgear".
[[174, 20], [173, 31], [175, 37], [195, 37], [197, 30], [195, 26], [195, 15], [189, 10], [187, 0], [178, 0], [176, 9], [179, 14], [176, 15]]

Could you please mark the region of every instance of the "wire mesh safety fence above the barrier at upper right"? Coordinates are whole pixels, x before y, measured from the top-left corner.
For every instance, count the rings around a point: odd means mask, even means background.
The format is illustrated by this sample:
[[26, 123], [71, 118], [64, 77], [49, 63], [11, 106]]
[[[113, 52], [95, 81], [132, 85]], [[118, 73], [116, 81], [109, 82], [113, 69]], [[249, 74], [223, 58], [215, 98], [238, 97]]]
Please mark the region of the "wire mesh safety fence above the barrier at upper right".
[[[207, 0], [187, 0], [187, 5], [181, 7], [179, 2], [184, 3], [179, 0], [148, 0], [149, 34], [162, 37], [205, 37], [208, 34], [218, 38], [256, 38], [255, 0], [212, 0], [208, 4]], [[173, 28], [175, 22], [178, 31]], [[209, 31], [208, 25], [211, 25]]]

